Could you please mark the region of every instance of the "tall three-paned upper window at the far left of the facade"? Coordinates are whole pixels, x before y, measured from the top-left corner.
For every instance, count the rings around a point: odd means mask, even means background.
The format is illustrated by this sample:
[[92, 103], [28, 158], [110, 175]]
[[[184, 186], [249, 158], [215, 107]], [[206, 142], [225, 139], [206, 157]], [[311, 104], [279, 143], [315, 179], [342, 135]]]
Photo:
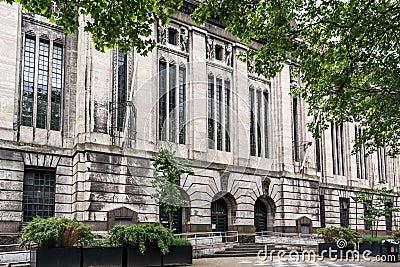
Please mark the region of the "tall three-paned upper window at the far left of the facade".
[[25, 36], [21, 73], [22, 125], [60, 130], [62, 58], [62, 45], [47, 39]]

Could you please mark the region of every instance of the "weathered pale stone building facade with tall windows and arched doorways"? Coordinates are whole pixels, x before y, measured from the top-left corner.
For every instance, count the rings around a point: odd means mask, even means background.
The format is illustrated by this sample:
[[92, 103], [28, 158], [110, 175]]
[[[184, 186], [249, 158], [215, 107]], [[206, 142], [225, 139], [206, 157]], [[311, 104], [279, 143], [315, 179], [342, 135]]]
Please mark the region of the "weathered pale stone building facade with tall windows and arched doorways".
[[[295, 65], [256, 75], [234, 56], [246, 47], [217, 22], [199, 27], [178, 13], [154, 25], [158, 45], [143, 57], [98, 52], [82, 28], [64, 35], [18, 5], [0, 3], [0, 18], [2, 233], [35, 215], [97, 231], [163, 220], [150, 197], [160, 147], [195, 171], [180, 181], [190, 205], [178, 232], [364, 230], [364, 207], [351, 198], [359, 188], [380, 177], [398, 192], [398, 160], [383, 149], [351, 155], [355, 125], [313, 140], [314, 118], [289, 94]], [[397, 230], [398, 220], [380, 229]]]

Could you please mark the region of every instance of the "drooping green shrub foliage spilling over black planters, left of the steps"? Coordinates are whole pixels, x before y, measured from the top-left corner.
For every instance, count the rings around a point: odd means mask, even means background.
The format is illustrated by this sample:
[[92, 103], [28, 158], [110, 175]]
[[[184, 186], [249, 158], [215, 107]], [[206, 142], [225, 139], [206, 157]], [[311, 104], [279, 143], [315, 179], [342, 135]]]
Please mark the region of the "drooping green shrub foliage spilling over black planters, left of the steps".
[[108, 239], [112, 246], [138, 246], [144, 254], [147, 245], [156, 245], [163, 254], [169, 251], [173, 235], [171, 230], [161, 223], [132, 224], [130, 226], [116, 225], [109, 231]]

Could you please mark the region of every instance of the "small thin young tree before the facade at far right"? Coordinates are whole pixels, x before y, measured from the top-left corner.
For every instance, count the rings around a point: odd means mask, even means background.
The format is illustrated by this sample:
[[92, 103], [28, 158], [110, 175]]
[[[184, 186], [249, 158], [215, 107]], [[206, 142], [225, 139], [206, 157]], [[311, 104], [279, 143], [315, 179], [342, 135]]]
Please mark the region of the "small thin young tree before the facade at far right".
[[393, 211], [399, 211], [399, 208], [392, 207], [393, 200], [391, 194], [393, 189], [389, 189], [383, 184], [385, 180], [379, 181], [380, 186], [375, 188], [371, 194], [368, 194], [365, 189], [360, 189], [357, 195], [353, 197], [353, 200], [364, 204], [367, 209], [367, 215], [364, 215], [362, 219], [371, 223], [371, 236], [378, 235], [379, 222], [382, 217], [389, 217]]

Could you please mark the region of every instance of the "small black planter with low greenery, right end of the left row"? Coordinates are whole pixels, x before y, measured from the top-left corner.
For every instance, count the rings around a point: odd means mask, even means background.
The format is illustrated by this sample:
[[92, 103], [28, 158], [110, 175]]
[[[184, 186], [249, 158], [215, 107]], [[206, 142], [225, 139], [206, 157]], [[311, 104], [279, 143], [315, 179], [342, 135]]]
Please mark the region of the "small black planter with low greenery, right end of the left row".
[[163, 266], [165, 265], [187, 265], [192, 264], [193, 247], [189, 240], [176, 238], [172, 240], [169, 252], [163, 255]]

